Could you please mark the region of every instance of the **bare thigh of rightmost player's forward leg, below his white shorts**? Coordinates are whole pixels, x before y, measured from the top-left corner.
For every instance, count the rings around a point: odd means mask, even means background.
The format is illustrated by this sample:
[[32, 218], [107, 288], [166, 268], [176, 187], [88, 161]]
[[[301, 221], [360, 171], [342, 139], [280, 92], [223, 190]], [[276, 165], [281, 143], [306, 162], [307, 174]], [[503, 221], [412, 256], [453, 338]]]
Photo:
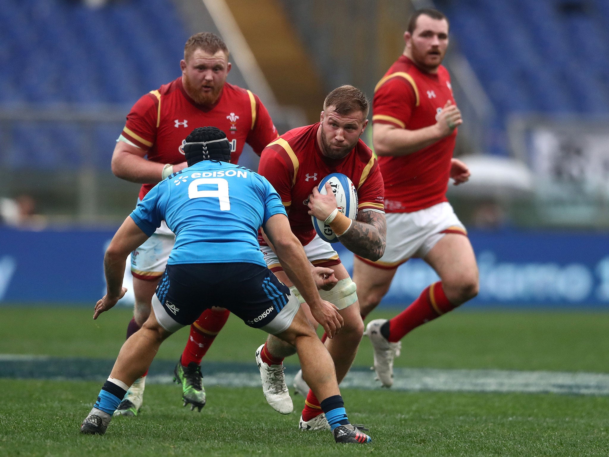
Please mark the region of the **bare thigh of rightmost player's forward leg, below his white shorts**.
[[478, 277], [476, 256], [470, 239], [457, 233], [446, 233], [424, 257], [443, 282]]

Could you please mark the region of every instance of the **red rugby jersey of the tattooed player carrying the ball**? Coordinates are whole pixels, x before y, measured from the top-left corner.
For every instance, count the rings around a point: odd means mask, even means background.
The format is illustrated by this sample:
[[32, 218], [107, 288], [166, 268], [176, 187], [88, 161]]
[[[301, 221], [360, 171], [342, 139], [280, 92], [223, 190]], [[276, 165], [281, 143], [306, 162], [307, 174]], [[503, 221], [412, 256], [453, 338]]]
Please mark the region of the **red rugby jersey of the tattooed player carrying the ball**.
[[382, 176], [370, 148], [359, 140], [347, 157], [329, 159], [317, 144], [319, 126], [317, 122], [284, 133], [262, 151], [258, 166], [258, 172], [273, 185], [284, 206], [290, 208], [290, 227], [303, 246], [315, 238], [305, 202], [330, 173], [342, 173], [351, 179], [357, 189], [358, 210], [383, 209]]

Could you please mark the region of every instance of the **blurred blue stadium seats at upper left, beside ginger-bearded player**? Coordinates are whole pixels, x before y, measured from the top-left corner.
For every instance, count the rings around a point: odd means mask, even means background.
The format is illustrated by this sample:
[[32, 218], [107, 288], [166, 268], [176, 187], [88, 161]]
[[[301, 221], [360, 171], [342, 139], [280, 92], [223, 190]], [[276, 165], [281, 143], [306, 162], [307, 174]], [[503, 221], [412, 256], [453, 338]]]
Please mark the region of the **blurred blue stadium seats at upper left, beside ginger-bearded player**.
[[[99, 8], [76, 0], [2, 2], [0, 107], [120, 104], [180, 75], [189, 34], [171, 0], [110, 1]], [[123, 122], [96, 127], [93, 164], [109, 169]], [[32, 129], [40, 157], [27, 160]], [[0, 144], [0, 165], [52, 169], [81, 163], [80, 131], [66, 124], [13, 123]], [[8, 144], [7, 144], [8, 143]]]

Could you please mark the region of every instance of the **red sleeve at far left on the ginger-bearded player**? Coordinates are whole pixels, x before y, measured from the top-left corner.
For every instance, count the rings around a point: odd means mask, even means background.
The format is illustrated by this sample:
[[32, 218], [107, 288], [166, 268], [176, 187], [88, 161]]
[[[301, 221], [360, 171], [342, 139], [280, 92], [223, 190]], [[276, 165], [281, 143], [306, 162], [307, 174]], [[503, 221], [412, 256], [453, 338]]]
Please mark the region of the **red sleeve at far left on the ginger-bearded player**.
[[144, 151], [148, 151], [157, 139], [158, 102], [153, 93], [141, 97], [131, 108], [122, 130], [122, 136]]

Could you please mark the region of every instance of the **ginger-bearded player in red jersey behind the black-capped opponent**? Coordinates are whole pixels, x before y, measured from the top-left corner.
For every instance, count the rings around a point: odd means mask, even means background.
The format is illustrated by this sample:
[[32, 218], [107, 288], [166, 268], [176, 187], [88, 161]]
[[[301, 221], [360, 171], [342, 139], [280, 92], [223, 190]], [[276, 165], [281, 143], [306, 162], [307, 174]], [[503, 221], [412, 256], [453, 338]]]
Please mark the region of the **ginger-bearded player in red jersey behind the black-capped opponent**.
[[[237, 163], [245, 143], [261, 154], [277, 131], [258, 96], [226, 82], [231, 64], [228, 48], [214, 34], [192, 35], [180, 62], [182, 75], [141, 97], [114, 148], [112, 171], [119, 178], [143, 183], [139, 199], [158, 182], [186, 167], [183, 141], [194, 127], [214, 126], [227, 133], [231, 161]], [[163, 275], [175, 235], [163, 222], [146, 243], [132, 253], [135, 308], [127, 338], [150, 314], [152, 296]], [[206, 310], [191, 326], [188, 343], [175, 367], [182, 384], [184, 405], [205, 405], [199, 363], [224, 326], [229, 312]], [[135, 381], [114, 414], [135, 416], [142, 405], [146, 375]]]

